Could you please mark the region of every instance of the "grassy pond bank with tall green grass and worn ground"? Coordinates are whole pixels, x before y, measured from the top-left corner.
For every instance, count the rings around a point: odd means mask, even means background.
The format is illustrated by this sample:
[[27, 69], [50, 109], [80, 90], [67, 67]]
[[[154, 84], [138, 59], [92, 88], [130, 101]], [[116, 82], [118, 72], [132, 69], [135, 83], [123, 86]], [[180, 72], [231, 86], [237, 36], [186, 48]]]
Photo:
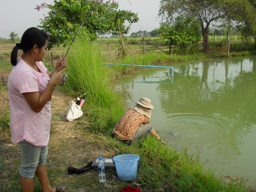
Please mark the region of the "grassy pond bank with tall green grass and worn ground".
[[[181, 57], [147, 54], [141, 57], [134, 56], [133, 62], [134, 64], [159, 65], [205, 57], [201, 54]], [[127, 56], [116, 63], [130, 64], [130, 60], [131, 58]], [[214, 173], [205, 171], [199, 163], [198, 156], [189, 154], [186, 146], [181, 152], [176, 152], [152, 136], [144, 139], [141, 145], [132, 144], [131, 146], [113, 139], [110, 130], [127, 106], [125, 105], [125, 93], [114, 91], [112, 81], [116, 76], [128, 73], [130, 68], [109, 67], [101, 63], [97, 47], [86, 39], [76, 39], [68, 55], [69, 67], [65, 69], [69, 77], [62, 88], [72, 97], [65, 96], [65, 98], [62, 95], [62, 97], [56, 96], [55, 98], [54, 96], [53, 104], [56, 100], [63, 100], [67, 104], [67, 100], [70, 101], [84, 93], [87, 93], [87, 98], [82, 107], [84, 115], [74, 121], [74, 124], [63, 121], [66, 114], [63, 115], [61, 107], [58, 110], [54, 109], [53, 121], [55, 118], [59, 121], [52, 125], [51, 131], [51, 146], [47, 162], [51, 183], [56, 185], [61, 183], [73, 191], [119, 191], [127, 186], [138, 187], [143, 191], [250, 191], [244, 187], [243, 181], [224, 183], [221, 178], [215, 177]], [[139, 68], [136, 69], [139, 70]], [[7, 92], [2, 90], [3, 100], [6, 101]], [[8, 112], [8, 102], [5, 106], [3, 109], [1, 107], [1, 112]], [[63, 127], [59, 127], [61, 123]], [[1, 148], [0, 174], [4, 176], [1, 176], [0, 191], [20, 191], [17, 175], [20, 160], [18, 147], [12, 148], [12, 144], [8, 143], [10, 131], [7, 128], [2, 127], [1, 133], [1, 144], [6, 147]], [[112, 179], [112, 175], [116, 176], [115, 170], [106, 170], [106, 184], [115, 186], [111, 189], [99, 183], [97, 171], [90, 170], [82, 175], [67, 175], [68, 166], [82, 167], [88, 163], [85, 159], [92, 161], [95, 157], [111, 158], [118, 154], [140, 156], [142, 165], [134, 180], [139, 185]], [[7, 162], [9, 166], [6, 166]], [[40, 184], [38, 180], [35, 180], [35, 191], [40, 190]]]

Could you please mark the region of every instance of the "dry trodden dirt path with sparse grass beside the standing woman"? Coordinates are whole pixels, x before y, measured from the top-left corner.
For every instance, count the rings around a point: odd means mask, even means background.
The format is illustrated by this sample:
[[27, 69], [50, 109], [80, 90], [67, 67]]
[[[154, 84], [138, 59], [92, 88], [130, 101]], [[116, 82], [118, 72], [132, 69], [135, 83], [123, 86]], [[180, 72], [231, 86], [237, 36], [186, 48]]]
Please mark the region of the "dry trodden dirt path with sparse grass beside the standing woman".
[[[112, 158], [115, 156], [114, 149], [106, 148], [104, 143], [95, 137], [90, 131], [90, 123], [86, 121], [84, 115], [82, 119], [67, 121], [68, 102], [72, 97], [55, 89], [52, 96], [52, 128], [49, 141], [48, 169], [58, 169], [57, 178], [61, 178], [59, 183], [73, 191], [90, 191], [99, 185], [98, 172], [90, 170], [82, 175], [67, 174], [68, 167], [81, 168], [97, 157]], [[86, 107], [86, 103], [83, 105]], [[54, 176], [55, 176], [54, 175]], [[111, 177], [111, 175], [110, 175]], [[86, 184], [86, 180], [95, 180]], [[51, 180], [51, 179], [50, 179]], [[56, 179], [55, 179], [56, 180]], [[57, 179], [58, 180], [58, 179]], [[80, 184], [82, 182], [82, 184]], [[104, 190], [105, 191], [105, 190]]]

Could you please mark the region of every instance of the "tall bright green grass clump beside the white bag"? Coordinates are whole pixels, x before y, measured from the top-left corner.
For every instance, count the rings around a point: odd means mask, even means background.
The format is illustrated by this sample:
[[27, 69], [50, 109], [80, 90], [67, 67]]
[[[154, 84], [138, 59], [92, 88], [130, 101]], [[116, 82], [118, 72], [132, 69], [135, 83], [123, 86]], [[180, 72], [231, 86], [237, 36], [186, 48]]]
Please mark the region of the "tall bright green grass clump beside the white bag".
[[111, 88], [113, 71], [102, 64], [100, 51], [86, 33], [76, 37], [67, 61], [68, 79], [63, 90], [75, 97], [86, 93], [82, 109], [94, 122], [95, 130], [107, 132], [124, 112], [123, 98]]

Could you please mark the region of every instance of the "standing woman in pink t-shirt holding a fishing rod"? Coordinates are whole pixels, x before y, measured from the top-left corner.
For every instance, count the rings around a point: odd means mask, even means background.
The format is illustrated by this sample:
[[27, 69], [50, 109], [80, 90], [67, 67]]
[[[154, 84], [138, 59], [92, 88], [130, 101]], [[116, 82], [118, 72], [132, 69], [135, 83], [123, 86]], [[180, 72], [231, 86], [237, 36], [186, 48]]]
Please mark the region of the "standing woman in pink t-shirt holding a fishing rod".
[[[64, 191], [65, 187], [52, 188], [48, 181], [46, 156], [51, 127], [51, 98], [56, 85], [61, 82], [61, 66], [67, 66], [66, 58], [60, 58], [51, 74], [42, 63], [46, 53], [48, 35], [35, 27], [27, 29], [21, 43], [11, 53], [14, 66], [8, 79], [10, 123], [13, 143], [19, 143], [22, 163], [19, 180], [23, 191], [33, 191], [34, 173], [43, 191]], [[17, 60], [18, 49], [23, 54]]]

